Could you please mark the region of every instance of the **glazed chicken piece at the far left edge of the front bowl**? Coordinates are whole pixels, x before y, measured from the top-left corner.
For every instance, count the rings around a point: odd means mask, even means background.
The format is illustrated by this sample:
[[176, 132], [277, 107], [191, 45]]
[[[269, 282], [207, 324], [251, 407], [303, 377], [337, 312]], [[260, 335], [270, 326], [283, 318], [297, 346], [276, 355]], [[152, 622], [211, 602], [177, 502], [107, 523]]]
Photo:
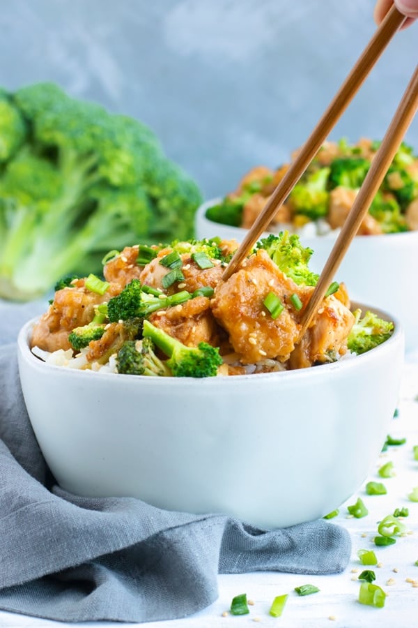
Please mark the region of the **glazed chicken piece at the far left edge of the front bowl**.
[[51, 352], [70, 349], [70, 331], [91, 322], [94, 306], [108, 301], [119, 292], [118, 285], [110, 285], [104, 294], [91, 292], [84, 287], [84, 279], [78, 279], [72, 286], [56, 291], [54, 302], [33, 329], [31, 347]]

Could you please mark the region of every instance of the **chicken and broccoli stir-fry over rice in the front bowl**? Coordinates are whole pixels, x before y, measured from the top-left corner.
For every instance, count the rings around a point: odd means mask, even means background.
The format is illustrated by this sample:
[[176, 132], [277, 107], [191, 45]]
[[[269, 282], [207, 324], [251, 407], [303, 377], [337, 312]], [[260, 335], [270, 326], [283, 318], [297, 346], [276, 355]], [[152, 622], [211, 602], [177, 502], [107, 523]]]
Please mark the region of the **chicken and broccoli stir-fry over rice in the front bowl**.
[[236, 241], [128, 246], [103, 260], [103, 276], [66, 278], [33, 329], [45, 361], [89, 371], [211, 377], [316, 366], [364, 353], [392, 322], [350, 311], [332, 283], [300, 341], [301, 317], [318, 276], [296, 234], [258, 241], [228, 280]]

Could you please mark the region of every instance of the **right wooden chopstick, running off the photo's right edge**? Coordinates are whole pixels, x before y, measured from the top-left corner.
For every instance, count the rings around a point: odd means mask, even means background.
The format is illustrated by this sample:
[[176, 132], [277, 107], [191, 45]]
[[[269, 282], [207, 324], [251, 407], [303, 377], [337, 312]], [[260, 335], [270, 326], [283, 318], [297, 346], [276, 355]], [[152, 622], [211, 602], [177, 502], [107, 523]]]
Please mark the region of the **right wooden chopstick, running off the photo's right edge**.
[[300, 329], [299, 341], [304, 336], [312, 317], [314, 317], [316, 311], [318, 310], [320, 302], [325, 297], [325, 292], [327, 292], [327, 289], [334, 278], [334, 274], [339, 268], [339, 265], [341, 264], [351, 241], [355, 237], [364, 216], [366, 216], [371, 202], [373, 201], [378, 188], [380, 188], [396, 151], [403, 140], [403, 136], [405, 135], [408, 126], [410, 126], [417, 110], [418, 66], [415, 68], [415, 72], [412, 75], [412, 79], [408, 83], [405, 94], [403, 94], [401, 103], [399, 103], [394, 117], [389, 124], [389, 128], [385, 133], [382, 144], [380, 144], [380, 147], [371, 162], [370, 170], [366, 174], [362, 187], [359, 189], [359, 193], [355, 197], [353, 207], [350, 209], [339, 237], [336, 239], [330, 256], [328, 257], [323, 271], [320, 274], [320, 278], [316, 284], [314, 292], [312, 293], [311, 299], [309, 299], [307, 308], [302, 316], [302, 328]]

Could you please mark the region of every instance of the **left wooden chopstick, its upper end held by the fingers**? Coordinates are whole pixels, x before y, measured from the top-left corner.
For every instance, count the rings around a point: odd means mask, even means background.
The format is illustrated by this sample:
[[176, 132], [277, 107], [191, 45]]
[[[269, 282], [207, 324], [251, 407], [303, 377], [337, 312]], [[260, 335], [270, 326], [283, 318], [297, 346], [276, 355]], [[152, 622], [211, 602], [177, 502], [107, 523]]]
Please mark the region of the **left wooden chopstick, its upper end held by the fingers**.
[[366, 76], [405, 19], [405, 15], [402, 15], [402, 13], [397, 10], [396, 6], [392, 6], [383, 22], [380, 24], [380, 27], [376, 29], [373, 37], [364, 48], [359, 59], [357, 59], [353, 69], [346, 77], [346, 80], [327, 107], [327, 110], [325, 110], [325, 113], [309, 136], [307, 142], [302, 146], [299, 154], [297, 154], [283, 179], [281, 179], [279, 185], [270, 196], [263, 211], [247, 232], [247, 235], [238, 247], [235, 255], [233, 255], [231, 262], [229, 262], [224, 270], [224, 274], [222, 275], [224, 281], [235, 272], [247, 253], [254, 246], [255, 242], [261, 237], [261, 234], [263, 234], [266, 227], [270, 224], [277, 209], [284, 203], [295, 184], [297, 184], [297, 181], [302, 177], [302, 174], [307, 169], [314, 156], [316, 156], [327, 135], [330, 133], [330, 130], [332, 130], [339, 117], [341, 117], [341, 114], [343, 114], [351, 100], [353, 100], [359, 87], [362, 86], [362, 83], [366, 79]]

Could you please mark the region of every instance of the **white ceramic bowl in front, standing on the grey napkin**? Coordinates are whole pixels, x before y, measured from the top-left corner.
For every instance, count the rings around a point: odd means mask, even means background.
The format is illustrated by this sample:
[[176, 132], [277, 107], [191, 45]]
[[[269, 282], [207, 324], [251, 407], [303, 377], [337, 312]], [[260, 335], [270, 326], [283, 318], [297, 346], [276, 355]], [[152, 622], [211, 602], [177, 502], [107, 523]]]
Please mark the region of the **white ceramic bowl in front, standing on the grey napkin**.
[[18, 338], [20, 378], [66, 490], [278, 528], [332, 511], [371, 470], [398, 399], [395, 324], [386, 343], [334, 364], [180, 379], [45, 364], [29, 350], [32, 321]]

